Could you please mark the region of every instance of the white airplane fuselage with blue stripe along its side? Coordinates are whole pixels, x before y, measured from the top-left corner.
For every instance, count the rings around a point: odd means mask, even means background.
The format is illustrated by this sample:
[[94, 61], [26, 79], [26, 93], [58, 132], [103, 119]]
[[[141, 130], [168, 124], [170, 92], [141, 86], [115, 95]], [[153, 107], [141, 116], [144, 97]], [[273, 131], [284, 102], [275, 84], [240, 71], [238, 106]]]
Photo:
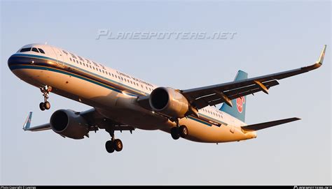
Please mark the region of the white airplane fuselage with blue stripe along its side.
[[[22, 48], [26, 47], [41, 48], [45, 54], [29, 51], [11, 56], [8, 66], [25, 82], [52, 86], [53, 93], [95, 107], [106, 118], [134, 128], [170, 133], [175, 126], [137, 103], [138, 96], [146, 96], [158, 86], [57, 47], [31, 44]], [[188, 128], [186, 139], [217, 143], [256, 137], [256, 132], [241, 129], [245, 123], [219, 109], [205, 107], [198, 114], [179, 120]]]

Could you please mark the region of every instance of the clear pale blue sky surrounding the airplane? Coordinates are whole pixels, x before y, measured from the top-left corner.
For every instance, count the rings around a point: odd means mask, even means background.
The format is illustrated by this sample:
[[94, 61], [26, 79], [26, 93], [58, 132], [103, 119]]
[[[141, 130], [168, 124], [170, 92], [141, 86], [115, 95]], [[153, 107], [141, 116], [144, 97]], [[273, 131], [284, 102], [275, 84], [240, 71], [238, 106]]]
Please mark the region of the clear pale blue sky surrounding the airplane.
[[[235, 32], [233, 39], [96, 40], [118, 32]], [[261, 130], [256, 139], [224, 144], [173, 140], [161, 131], [116, 133], [123, 151], [109, 154], [104, 130], [64, 139], [47, 123], [57, 109], [87, 105], [42, 95], [13, 75], [7, 60], [22, 45], [48, 43], [159, 86], [191, 89], [300, 68], [318, 70], [281, 80], [270, 94], [247, 98], [249, 124], [298, 116]], [[331, 185], [330, 1], [1, 1], [1, 181], [10, 185]], [[82, 86], [84, 87], [84, 86]]]

